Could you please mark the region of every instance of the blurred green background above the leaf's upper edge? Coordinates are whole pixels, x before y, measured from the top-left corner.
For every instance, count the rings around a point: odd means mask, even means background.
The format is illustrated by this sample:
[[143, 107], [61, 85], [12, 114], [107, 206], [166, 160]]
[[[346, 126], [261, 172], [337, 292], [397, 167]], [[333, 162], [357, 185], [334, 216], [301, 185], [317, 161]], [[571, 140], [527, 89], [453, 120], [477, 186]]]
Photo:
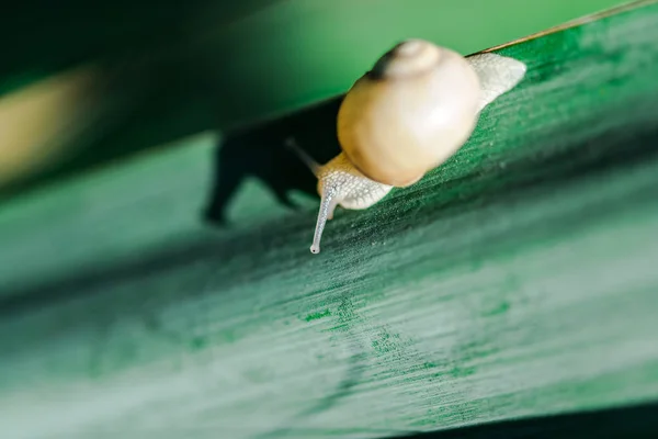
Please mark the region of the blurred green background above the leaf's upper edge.
[[[0, 26], [0, 196], [342, 93], [402, 38], [468, 54], [620, 3], [24, 1]], [[71, 69], [81, 74], [34, 91], [16, 115], [27, 99], [16, 92]]]

